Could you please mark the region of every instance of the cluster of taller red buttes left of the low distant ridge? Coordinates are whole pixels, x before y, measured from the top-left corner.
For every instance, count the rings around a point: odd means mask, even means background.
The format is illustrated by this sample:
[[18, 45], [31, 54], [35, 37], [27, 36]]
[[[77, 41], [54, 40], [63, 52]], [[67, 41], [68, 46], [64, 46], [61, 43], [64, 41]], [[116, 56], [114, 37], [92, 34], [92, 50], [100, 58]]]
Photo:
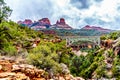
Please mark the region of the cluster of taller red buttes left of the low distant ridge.
[[23, 26], [28, 26], [35, 30], [47, 29], [47, 28], [66, 29], [66, 30], [72, 29], [71, 26], [66, 24], [64, 18], [60, 18], [60, 20], [57, 20], [56, 24], [53, 24], [53, 25], [51, 25], [51, 22], [48, 18], [42, 18], [42, 19], [40, 19], [38, 21], [34, 21], [34, 22], [32, 22], [32, 20], [30, 20], [30, 19], [25, 19], [24, 21], [18, 21], [17, 23], [21, 24]]

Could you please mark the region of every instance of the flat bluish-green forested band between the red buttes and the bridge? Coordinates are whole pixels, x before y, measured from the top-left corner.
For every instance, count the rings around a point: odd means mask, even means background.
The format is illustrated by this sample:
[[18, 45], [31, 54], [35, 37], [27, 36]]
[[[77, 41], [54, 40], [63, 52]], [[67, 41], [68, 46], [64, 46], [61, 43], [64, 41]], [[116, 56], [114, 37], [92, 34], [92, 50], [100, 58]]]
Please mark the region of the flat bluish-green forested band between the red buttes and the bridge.
[[100, 36], [103, 34], [108, 34], [109, 32], [101, 32], [97, 30], [86, 30], [86, 29], [72, 29], [72, 30], [65, 30], [65, 29], [46, 29], [41, 31], [49, 31], [53, 30], [59, 36]]

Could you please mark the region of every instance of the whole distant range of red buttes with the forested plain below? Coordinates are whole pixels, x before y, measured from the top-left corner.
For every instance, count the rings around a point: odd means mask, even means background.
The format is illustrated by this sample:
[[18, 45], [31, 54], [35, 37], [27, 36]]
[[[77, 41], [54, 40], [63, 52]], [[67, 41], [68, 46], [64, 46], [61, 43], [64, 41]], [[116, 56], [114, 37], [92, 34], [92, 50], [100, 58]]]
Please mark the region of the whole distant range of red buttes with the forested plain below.
[[30, 19], [25, 19], [17, 23], [21, 26], [28, 26], [31, 29], [43, 31], [45, 34], [48, 32], [47, 34], [57, 34], [59, 36], [100, 36], [112, 32], [110, 29], [90, 25], [86, 25], [81, 29], [74, 29], [66, 23], [64, 18], [60, 18], [55, 24], [51, 24], [48, 18], [42, 18], [34, 22]]

